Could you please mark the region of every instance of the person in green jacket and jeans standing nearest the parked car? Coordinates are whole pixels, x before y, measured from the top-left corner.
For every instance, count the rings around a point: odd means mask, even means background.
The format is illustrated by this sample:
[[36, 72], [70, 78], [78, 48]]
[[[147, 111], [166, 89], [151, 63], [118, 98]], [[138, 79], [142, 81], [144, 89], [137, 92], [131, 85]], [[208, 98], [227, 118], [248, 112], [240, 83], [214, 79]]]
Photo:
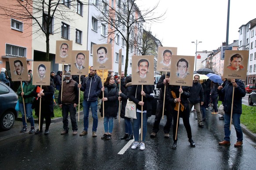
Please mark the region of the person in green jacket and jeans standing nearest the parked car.
[[24, 98], [25, 108], [26, 108], [26, 116], [29, 119], [29, 122], [31, 125], [29, 134], [35, 132], [35, 123], [34, 123], [34, 118], [33, 118], [33, 114], [32, 114], [32, 103], [33, 103], [33, 93], [32, 92], [36, 86], [32, 85], [32, 79], [33, 79], [32, 74], [29, 73], [29, 81], [24, 81], [22, 83], [23, 92], [21, 89], [21, 85], [19, 86], [18, 91], [17, 91], [17, 95], [20, 96], [18, 99], [18, 102], [19, 102], [20, 112], [22, 113], [23, 127], [20, 131], [21, 133], [27, 131], [27, 124], [26, 124], [26, 120], [25, 120], [25, 113], [24, 113], [22, 98]]

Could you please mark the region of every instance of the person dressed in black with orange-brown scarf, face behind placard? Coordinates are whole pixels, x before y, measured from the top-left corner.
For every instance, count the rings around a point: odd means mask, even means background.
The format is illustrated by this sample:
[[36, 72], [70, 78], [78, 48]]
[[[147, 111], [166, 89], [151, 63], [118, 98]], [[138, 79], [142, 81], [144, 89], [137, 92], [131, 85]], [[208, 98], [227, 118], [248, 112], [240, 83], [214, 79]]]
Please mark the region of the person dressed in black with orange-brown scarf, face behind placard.
[[[182, 86], [182, 88], [180, 88], [180, 86], [178, 86], [178, 85], [170, 85], [169, 93], [166, 94], [168, 102], [172, 104], [172, 116], [173, 116], [172, 149], [177, 148], [178, 137], [175, 139], [175, 136], [176, 136], [177, 123], [178, 123], [178, 127], [179, 127], [179, 120], [177, 122], [178, 108], [179, 108], [179, 117], [182, 117], [183, 124], [187, 131], [188, 142], [190, 142], [191, 147], [196, 146], [192, 139], [191, 127], [190, 127], [190, 122], [189, 122], [189, 117], [190, 117], [190, 106], [189, 106], [189, 100], [188, 100], [188, 98], [190, 97], [189, 89], [190, 89], [190, 87], [188, 87], [188, 86]], [[181, 94], [180, 98], [179, 98], [179, 93]], [[179, 102], [180, 102], [180, 106], [179, 106]]]

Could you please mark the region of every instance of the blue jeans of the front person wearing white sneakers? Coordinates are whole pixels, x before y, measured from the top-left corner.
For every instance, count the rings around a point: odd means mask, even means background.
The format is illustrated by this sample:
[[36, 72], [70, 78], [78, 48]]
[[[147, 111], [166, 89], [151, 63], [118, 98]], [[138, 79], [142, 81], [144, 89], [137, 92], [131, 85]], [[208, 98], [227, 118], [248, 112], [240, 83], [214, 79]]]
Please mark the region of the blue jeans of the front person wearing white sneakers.
[[[133, 119], [133, 133], [134, 133], [134, 141], [139, 141], [139, 128], [141, 126], [141, 112], [136, 112], [136, 117], [137, 119]], [[146, 113], [143, 113], [142, 142], [144, 142], [146, 138], [146, 123], [147, 123]]]

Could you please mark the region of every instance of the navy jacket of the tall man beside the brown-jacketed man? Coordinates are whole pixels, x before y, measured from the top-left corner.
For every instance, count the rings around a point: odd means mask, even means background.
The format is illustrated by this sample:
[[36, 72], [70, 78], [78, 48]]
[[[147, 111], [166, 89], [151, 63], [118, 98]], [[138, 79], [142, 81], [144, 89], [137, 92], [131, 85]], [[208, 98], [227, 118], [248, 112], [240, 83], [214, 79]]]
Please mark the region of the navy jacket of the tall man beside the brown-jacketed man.
[[80, 88], [82, 92], [84, 92], [84, 100], [88, 102], [96, 101], [101, 92], [102, 82], [101, 78], [95, 74], [84, 78], [83, 84]]

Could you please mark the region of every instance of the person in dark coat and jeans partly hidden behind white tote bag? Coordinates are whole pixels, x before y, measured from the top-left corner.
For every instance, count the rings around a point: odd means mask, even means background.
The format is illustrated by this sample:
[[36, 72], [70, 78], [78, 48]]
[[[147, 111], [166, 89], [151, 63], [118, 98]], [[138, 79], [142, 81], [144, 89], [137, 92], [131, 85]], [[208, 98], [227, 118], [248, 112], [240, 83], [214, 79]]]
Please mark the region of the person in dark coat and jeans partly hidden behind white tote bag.
[[132, 76], [127, 76], [124, 81], [124, 92], [119, 92], [120, 97], [119, 100], [122, 100], [122, 108], [121, 108], [121, 114], [120, 117], [124, 118], [125, 122], [125, 134], [124, 137], [121, 138], [121, 140], [132, 140], [133, 139], [133, 132], [132, 132], [132, 122], [131, 119], [128, 117], [125, 117], [125, 107], [127, 103], [127, 99], [130, 95], [130, 91], [132, 89]]

